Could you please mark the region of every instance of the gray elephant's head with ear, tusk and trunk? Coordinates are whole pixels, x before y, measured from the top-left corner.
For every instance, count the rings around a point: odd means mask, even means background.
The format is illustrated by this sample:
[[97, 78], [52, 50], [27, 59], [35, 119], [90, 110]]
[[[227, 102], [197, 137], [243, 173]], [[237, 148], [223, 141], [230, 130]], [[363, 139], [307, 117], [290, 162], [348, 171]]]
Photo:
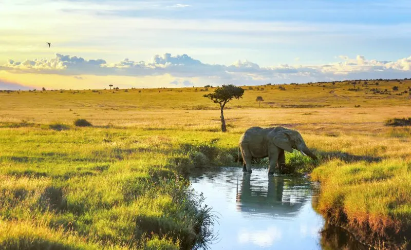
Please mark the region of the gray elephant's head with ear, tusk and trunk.
[[305, 144], [301, 134], [295, 130], [278, 127], [278, 129], [275, 129], [274, 131], [272, 140], [277, 147], [290, 153], [294, 148], [303, 153], [303, 155], [309, 156], [313, 160], [317, 160], [317, 157]]

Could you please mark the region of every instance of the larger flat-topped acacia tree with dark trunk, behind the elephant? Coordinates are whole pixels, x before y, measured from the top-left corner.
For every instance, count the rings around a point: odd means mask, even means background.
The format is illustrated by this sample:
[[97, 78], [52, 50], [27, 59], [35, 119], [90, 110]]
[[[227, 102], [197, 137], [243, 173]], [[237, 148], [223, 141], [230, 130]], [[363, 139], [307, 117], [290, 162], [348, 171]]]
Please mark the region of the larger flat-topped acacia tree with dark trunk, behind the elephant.
[[226, 121], [224, 120], [223, 114], [224, 106], [226, 106], [226, 104], [233, 99], [240, 99], [242, 97], [242, 94], [244, 94], [244, 89], [230, 84], [222, 85], [222, 87], [218, 87], [216, 90], [214, 90], [213, 93], [203, 95], [203, 97], [210, 99], [214, 103], [220, 104], [221, 131], [227, 131]]

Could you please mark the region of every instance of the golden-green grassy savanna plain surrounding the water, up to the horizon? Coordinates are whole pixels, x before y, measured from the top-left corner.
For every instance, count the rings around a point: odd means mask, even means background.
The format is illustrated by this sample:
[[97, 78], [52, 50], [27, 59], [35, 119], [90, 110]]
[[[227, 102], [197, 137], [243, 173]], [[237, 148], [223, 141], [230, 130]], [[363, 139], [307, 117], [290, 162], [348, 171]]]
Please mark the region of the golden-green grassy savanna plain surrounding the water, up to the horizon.
[[387, 120], [410, 116], [410, 87], [243, 86], [225, 133], [219, 106], [203, 97], [211, 86], [2, 91], [0, 249], [203, 247], [215, 220], [188, 176], [240, 167], [238, 140], [251, 126], [301, 132], [319, 160], [294, 151], [286, 164], [320, 181], [312, 206], [329, 223], [370, 246], [409, 248], [411, 128]]

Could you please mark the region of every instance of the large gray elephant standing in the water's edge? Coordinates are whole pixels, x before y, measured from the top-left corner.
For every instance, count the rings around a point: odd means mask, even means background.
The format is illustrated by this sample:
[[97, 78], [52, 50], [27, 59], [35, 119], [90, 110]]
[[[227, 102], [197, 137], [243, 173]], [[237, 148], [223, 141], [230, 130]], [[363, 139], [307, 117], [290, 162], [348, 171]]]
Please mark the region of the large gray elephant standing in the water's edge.
[[238, 145], [238, 158], [241, 153], [243, 171], [251, 173], [251, 160], [268, 157], [270, 165], [268, 174], [274, 174], [276, 165], [282, 172], [285, 167], [285, 153], [292, 152], [295, 148], [303, 155], [316, 160], [317, 157], [308, 149], [301, 134], [295, 130], [284, 127], [261, 128], [251, 127], [242, 134]]

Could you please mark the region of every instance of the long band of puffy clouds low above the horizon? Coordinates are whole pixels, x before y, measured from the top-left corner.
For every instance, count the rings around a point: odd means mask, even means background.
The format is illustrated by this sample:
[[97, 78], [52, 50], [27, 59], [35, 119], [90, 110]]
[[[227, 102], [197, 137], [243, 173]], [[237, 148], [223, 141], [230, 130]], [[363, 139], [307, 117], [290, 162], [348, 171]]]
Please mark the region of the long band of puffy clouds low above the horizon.
[[12, 73], [110, 76], [171, 75], [171, 84], [193, 85], [190, 79], [201, 79], [210, 84], [231, 83], [257, 85], [265, 83], [306, 83], [355, 79], [411, 78], [411, 56], [397, 61], [368, 60], [362, 55], [351, 59], [339, 56], [339, 62], [324, 65], [260, 66], [247, 60], [231, 65], [207, 64], [187, 54], [154, 55], [148, 61], [124, 59], [107, 63], [103, 59], [86, 60], [83, 57], [55, 54], [52, 59], [35, 59], [15, 62], [9, 60], [0, 70]]

